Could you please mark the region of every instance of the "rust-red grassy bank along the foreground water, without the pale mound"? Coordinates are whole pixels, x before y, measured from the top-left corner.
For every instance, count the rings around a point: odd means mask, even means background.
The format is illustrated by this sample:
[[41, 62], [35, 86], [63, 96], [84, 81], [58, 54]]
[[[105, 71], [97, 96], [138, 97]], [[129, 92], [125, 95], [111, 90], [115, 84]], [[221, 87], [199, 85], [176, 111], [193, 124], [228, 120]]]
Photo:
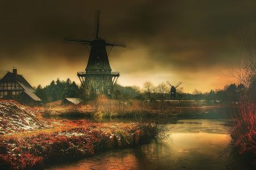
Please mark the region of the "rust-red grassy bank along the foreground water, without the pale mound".
[[[63, 122], [64, 123], [64, 122]], [[73, 122], [74, 124], [76, 122]], [[0, 139], [0, 169], [39, 169], [155, 138], [151, 123], [86, 123], [69, 130]]]

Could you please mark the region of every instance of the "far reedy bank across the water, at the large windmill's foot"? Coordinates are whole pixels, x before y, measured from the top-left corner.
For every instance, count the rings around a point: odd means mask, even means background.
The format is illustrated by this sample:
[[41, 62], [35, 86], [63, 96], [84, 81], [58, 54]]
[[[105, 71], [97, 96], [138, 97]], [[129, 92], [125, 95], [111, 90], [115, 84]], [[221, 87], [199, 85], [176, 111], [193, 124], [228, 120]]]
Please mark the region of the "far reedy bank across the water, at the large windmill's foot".
[[[232, 107], [232, 109], [230, 109]], [[44, 117], [90, 118], [172, 118], [223, 119], [230, 118], [236, 105], [172, 105], [170, 101], [118, 101], [100, 97], [79, 106], [46, 105], [38, 107]], [[230, 111], [232, 110], [232, 111]]]

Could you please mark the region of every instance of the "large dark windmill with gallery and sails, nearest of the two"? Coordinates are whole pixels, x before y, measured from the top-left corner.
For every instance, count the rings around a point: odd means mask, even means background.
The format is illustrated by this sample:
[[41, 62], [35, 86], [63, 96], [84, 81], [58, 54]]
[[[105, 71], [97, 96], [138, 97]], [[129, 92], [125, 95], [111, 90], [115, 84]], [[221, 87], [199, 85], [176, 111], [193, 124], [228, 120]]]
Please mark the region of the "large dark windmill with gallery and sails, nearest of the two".
[[[93, 40], [64, 39], [66, 44], [90, 45], [90, 54], [85, 71], [77, 73], [88, 96], [93, 93], [106, 94], [108, 96], [112, 94], [119, 72], [112, 72], [108, 56], [113, 47], [126, 47], [123, 42], [110, 42], [100, 38], [98, 36], [99, 28], [100, 11], [97, 11]], [[106, 47], [110, 47], [108, 53]]]

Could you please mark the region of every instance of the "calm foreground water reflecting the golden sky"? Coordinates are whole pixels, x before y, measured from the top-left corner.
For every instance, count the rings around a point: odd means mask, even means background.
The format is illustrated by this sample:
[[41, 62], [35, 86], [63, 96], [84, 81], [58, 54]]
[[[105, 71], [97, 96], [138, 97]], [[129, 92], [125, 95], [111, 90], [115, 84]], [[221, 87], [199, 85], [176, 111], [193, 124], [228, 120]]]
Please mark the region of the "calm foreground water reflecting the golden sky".
[[229, 156], [220, 156], [230, 138], [220, 120], [181, 120], [168, 124], [163, 142], [110, 150], [75, 163], [49, 169], [242, 169]]

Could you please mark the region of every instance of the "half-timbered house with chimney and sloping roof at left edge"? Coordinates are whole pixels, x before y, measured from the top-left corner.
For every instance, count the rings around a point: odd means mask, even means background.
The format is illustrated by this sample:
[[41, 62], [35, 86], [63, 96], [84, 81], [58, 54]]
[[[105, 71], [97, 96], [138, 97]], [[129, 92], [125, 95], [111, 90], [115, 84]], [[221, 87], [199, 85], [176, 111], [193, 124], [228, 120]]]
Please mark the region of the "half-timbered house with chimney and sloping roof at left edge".
[[13, 69], [13, 73], [7, 72], [0, 80], [0, 98], [18, 99], [20, 103], [36, 105], [42, 100], [35, 95], [35, 90], [26, 79]]

